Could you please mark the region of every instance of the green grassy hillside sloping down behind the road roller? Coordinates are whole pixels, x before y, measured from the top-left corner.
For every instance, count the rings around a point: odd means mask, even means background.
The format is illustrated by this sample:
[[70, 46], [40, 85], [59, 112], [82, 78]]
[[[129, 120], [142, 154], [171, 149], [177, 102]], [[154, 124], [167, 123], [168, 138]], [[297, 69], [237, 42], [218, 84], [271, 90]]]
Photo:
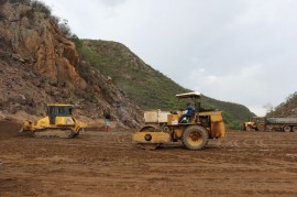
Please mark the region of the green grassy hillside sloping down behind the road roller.
[[[143, 110], [172, 110], [184, 107], [177, 103], [176, 94], [191, 91], [176, 84], [162, 73], [153, 69], [128, 47], [120, 43], [92, 40], [74, 40], [80, 57], [90, 62], [134, 100]], [[201, 99], [204, 108], [215, 108], [223, 111], [223, 118], [229, 128], [237, 129], [243, 121], [253, 116], [241, 105], [223, 102], [208, 97]]]

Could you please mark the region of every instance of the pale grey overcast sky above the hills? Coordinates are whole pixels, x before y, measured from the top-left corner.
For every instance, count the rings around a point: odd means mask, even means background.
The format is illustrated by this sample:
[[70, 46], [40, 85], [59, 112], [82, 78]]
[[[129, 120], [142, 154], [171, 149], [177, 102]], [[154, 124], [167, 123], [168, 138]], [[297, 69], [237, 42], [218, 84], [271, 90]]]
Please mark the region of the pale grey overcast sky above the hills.
[[258, 116], [297, 91], [296, 0], [44, 0], [80, 39], [116, 41], [185, 88]]

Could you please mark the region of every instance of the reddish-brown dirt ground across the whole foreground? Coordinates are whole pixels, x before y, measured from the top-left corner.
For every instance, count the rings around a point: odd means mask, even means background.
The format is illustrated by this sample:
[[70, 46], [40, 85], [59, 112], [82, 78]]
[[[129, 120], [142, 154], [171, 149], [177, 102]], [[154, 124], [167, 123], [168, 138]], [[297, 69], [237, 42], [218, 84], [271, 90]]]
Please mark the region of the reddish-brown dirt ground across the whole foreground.
[[297, 133], [229, 131], [204, 151], [139, 149], [132, 132], [20, 135], [0, 122], [0, 196], [297, 196]]

